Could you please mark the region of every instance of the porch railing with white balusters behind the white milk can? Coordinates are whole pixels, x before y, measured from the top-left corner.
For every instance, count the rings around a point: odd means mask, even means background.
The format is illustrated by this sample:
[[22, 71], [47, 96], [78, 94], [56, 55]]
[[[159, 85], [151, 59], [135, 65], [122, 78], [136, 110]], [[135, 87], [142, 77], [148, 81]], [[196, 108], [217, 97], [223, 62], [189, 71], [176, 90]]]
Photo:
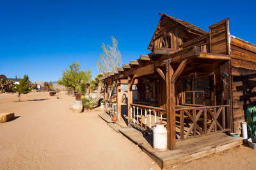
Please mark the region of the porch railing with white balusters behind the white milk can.
[[163, 115], [166, 109], [142, 104], [131, 104], [130, 106], [130, 122], [143, 130], [150, 129], [157, 123], [157, 120], [163, 122]]

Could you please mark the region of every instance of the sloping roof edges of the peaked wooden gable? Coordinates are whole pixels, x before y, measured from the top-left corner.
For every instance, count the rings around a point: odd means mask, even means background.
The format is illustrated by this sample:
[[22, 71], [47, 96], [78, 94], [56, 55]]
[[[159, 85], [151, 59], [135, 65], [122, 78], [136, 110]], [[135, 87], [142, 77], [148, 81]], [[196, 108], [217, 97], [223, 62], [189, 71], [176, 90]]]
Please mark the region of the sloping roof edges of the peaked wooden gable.
[[[182, 25], [183, 27], [186, 27], [186, 29], [188, 29], [191, 33], [194, 33], [194, 34], [199, 34], [199, 35], [204, 35], [204, 34], [207, 34], [208, 32], [207, 31], [204, 31], [204, 29], [200, 29], [200, 27], [196, 27], [196, 25], [193, 25], [189, 22], [186, 22], [185, 20], [180, 20], [178, 18], [174, 18], [174, 17], [171, 17], [169, 15], [166, 15], [164, 13], [159, 13], [159, 15], [162, 15], [162, 17], [160, 18], [160, 20], [163, 18], [163, 17], [168, 17], [170, 20], [176, 22], [177, 24], [179, 25]], [[157, 25], [157, 28], [159, 27], [159, 24]], [[157, 28], [156, 28], [156, 31], [154, 32], [154, 35], [156, 34], [157, 32]], [[149, 45], [148, 45], [148, 49], [150, 49], [150, 46], [152, 46], [152, 41], [154, 40], [153, 39], [154, 36], [152, 37]]]

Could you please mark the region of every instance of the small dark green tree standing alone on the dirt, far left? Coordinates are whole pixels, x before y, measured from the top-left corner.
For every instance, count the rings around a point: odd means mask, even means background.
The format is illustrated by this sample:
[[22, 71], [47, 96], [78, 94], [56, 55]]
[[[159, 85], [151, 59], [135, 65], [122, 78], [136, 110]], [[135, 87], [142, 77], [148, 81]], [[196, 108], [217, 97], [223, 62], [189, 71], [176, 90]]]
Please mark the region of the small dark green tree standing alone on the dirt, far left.
[[29, 77], [25, 74], [22, 80], [19, 81], [19, 84], [16, 84], [15, 87], [13, 87], [13, 91], [19, 93], [19, 101], [21, 94], [28, 94], [29, 92], [31, 92], [32, 89], [29, 88], [29, 84]]

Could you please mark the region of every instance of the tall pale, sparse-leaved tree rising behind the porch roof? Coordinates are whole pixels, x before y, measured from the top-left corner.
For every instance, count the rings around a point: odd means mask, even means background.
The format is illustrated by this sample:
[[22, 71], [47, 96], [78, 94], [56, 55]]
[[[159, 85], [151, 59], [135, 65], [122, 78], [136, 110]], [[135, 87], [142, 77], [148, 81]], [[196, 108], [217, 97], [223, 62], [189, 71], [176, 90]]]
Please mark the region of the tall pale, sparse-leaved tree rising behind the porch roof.
[[118, 42], [115, 37], [111, 36], [112, 45], [102, 43], [103, 53], [100, 53], [99, 59], [96, 62], [100, 73], [108, 73], [114, 71], [116, 67], [122, 64], [121, 53], [118, 50]]

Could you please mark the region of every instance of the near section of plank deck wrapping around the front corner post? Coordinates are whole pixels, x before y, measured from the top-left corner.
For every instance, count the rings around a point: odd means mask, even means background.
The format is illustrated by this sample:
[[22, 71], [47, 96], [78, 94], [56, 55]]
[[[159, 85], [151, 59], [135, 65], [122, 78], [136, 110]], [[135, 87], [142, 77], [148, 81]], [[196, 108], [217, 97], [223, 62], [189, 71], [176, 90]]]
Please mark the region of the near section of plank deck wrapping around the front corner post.
[[139, 145], [162, 169], [166, 169], [181, 162], [198, 159], [212, 153], [221, 152], [243, 143], [242, 138], [232, 138], [225, 133], [215, 133], [187, 140], [177, 140], [175, 150], [164, 152], [152, 147], [152, 137], [144, 138], [136, 129], [120, 129], [120, 132]]

